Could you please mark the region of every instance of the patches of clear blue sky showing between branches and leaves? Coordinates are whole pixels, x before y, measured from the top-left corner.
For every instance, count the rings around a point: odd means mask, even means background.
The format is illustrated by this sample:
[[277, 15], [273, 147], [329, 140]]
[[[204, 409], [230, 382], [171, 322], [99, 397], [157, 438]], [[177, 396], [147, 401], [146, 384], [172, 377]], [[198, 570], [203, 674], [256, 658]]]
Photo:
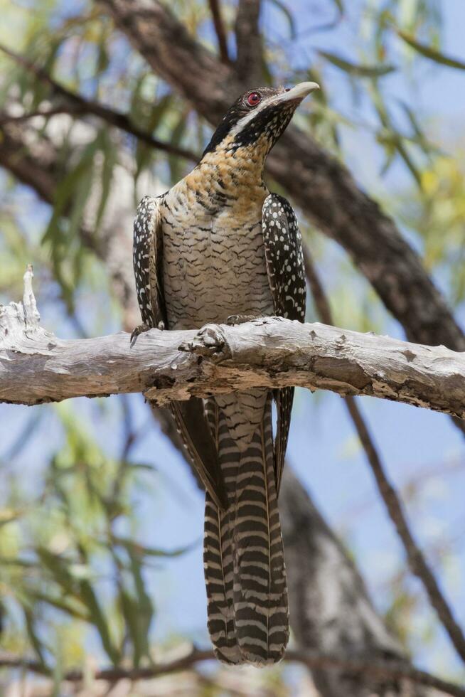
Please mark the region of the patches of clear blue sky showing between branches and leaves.
[[[302, 0], [293, 3], [294, 6], [299, 17], [299, 28], [301, 25], [301, 31], [304, 31], [307, 4]], [[353, 7], [356, 7], [355, 3]], [[272, 13], [269, 6], [267, 13]], [[444, 50], [464, 59], [465, 4], [460, 0], [446, 0], [444, 13]], [[279, 16], [285, 33], [284, 20]], [[308, 41], [302, 39], [296, 46], [296, 64], [300, 65], [307, 55], [311, 57]], [[323, 35], [319, 39], [322, 48], [324, 41]], [[338, 49], [350, 55], [356, 41], [350, 22], [344, 23], [340, 33], [331, 41], [333, 46], [325, 45], [325, 48]], [[343, 80], [336, 70], [333, 71], [333, 80], [331, 89], [344, 89]], [[389, 80], [393, 98], [403, 96], [400, 95], [405, 90], [403, 83], [395, 77]], [[448, 141], [451, 129], [459, 127], [464, 120], [465, 73], [434, 68], [424, 61], [416, 98], [417, 108], [426, 122], [429, 122], [429, 117], [434, 119], [430, 124], [432, 132]], [[348, 110], [354, 108], [349, 95], [341, 95], [341, 103]], [[361, 107], [361, 115], [369, 119], [370, 113], [364, 112], [364, 108]], [[456, 133], [456, 136], [459, 138], [460, 134]], [[392, 168], [385, 181], [379, 179], [378, 156], [375, 155], [369, 133], [360, 138], [360, 134], [355, 137], [346, 132], [345, 138], [350, 153], [349, 164], [362, 186], [370, 191], [393, 193], [406, 183], [400, 166]], [[330, 288], [338, 279], [328, 272], [328, 268], [333, 267], [332, 260], [340, 255], [341, 251], [336, 245], [326, 245], [321, 273]], [[329, 262], [326, 268], [325, 260]], [[441, 279], [438, 278], [437, 282], [440, 284]], [[53, 307], [43, 309], [43, 324], [59, 333]], [[459, 319], [465, 319], [464, 312], [459, 313]], [[386, 333], [402, 336], [402, 329], [387, 314], [383, 314], [383, 321]], [[344, 324], [343, 318], [341, 324]], [[350, 326], [350, 323], [344, 326]], [[131, 401], [137, 424], [141, 427], [147, 423], [146, 407], [137, 395]], [[116, 405], [116, 398], [110, 398], [109, 403]], [[440, 549], [442, 540], [454, 539], [454, 553], [446, 558], [444, 564], [438, 563], [434, 555], [432, 563], [441, 578], [444, 592], [465, 625], [463, 437], [447, 417], [427, 410], [369, 398], [361, 399], [360, 405], [383, 454], [387, 472], [397, 487], [402, 488], [410, 480], [421, 479], [425, 470], [433, 472], [425, 479], [414, 503], [407, 504], [407, 510], [417, 538], [426, 550]], [[92, 414], [93, 407], [88, 401], [80, 400], [79, 407], [82, 413]], [[110, 419], [103, 429], [99, 427], [96, 434], [110, 450], [116, 449], [119, 444], [119, 415], [116, 408], [111, 410]], [[30, 416], [31, 410], [27, 408], [0, 405], [0, 443], [3, 444], [0, 453], [8, 449]], [[34, 478], [41, 476], [50, 449], [60, 441], [58, 421], [51, 413], [46, 419], [47, 441], [43, 437], [44, 431], [38, 430], [19, 457], [2, 464], [6, 471], [21, 472], [25, 477], [31, 477], [31, 486]], [[156, 425], [151, 427], [149, 435], [134, 450], [133, 457], [149, 462], [156, 468], [154, 474], [146, 475], [146, 486], [134, 500], [141, 521], [140, 541], [166, 549], [199, 541], [181, 558], [163, 562], [159, 570], [149, 575], [158, 609], [154, 637], [165, 639], [171, 634], [181, 633], [207, 642], [200, 542], [203, 534], [203, 496], [181, 457], [173, 452]], [[348, 548], [355, 554], [375, 604], [380, 610], [385, 610], [389, 602], [386, 580], [402, 568], [403, 554], [373, 486], [373, 479], [341, 398], [330, 393], [310, 395], [299, 390], [294, 408], [289, 462], [328, 521], [340, 531]], [[416, 580], [410, 578], [408, 585], [422, 595]], [[454, 671], [458, 666], [454, 651], [441, 630], [434, 642], [427, 644], [423, 641], [431, 614], [426, 605], [422, 605], [422, 608], [411, 630], [417, 662], [430, 669]]]

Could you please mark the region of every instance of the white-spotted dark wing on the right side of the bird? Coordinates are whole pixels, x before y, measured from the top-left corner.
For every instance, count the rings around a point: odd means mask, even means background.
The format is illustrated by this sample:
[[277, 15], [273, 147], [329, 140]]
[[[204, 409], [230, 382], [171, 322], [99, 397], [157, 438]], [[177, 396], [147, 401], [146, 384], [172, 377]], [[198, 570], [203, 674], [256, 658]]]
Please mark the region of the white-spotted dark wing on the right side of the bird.
[[[277, 316], [303, 322], [305, 321], [306, 282], [299, 225], [288, 201], [277, 193], [270, 193], [264, 200], [262, 231], [274, 312]], [[274, 459], [279, 492], [289, 437], [294, 388], [275, 390], [274, 398], [277, 405]]]

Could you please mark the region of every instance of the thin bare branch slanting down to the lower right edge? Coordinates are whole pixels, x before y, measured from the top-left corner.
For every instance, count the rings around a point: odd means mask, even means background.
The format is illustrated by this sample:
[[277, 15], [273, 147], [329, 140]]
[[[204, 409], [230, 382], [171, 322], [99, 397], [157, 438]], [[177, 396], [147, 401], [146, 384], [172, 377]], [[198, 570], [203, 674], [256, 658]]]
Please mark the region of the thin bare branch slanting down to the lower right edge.
[[[328, 298], [326, 297], [324, 287], [321, 284], [318, 273], [316, 272], [316, 268], [314, 267], [309, 249], [305, 245], [304, 263], [306, 277], [309, 280], [309, 285], [314, 297], [316, 309], [319, 312], [319, 316], [321, 320], [325, 322], [325, 324], [333, 324], [333, 316]], [[385, 467], [383, 466], [383, 462], [378, 454], [373, 437], [368, 430], [368, 426], [365, 424], [365, 420], [363, 419], [363, 416], [358, 408], [356, 400], [351, 396], [346, 397], [346, 405], [348, 412], [351, 415], [353, 424], [356, 427], [360, 442], [365, 450], [368, 462], [370, 463], [376, 484], [378, 485], [380, 496], [385, 503], [387, 513], [392, 523], [394, 523], [397, 535], [399, 536], [402, 546], [404, 547], [410, 568], [417, 578], [419, 578], [419, 580], [422, 582], [424, 590], [426, 590], [429, 597], [429, 602], [437, 612], [439, 621], [442, 623], [447, 634], [449, 634], [449, 638], [451, 639], [457, 653], [465, 661], [464, 634], [461, 631], [459, 624], [457, 624], [454, 613], [442, 594], [439, 584], [434, 577], [432, 570], [429, 568], [427, 560], [424, 558], [422, 550], [417, 545], [415, 538], [410, 531], [407, 518], [402, 509], [400, 498], [392, 484], [390, 484], [389, 479], [387, 479]]]

